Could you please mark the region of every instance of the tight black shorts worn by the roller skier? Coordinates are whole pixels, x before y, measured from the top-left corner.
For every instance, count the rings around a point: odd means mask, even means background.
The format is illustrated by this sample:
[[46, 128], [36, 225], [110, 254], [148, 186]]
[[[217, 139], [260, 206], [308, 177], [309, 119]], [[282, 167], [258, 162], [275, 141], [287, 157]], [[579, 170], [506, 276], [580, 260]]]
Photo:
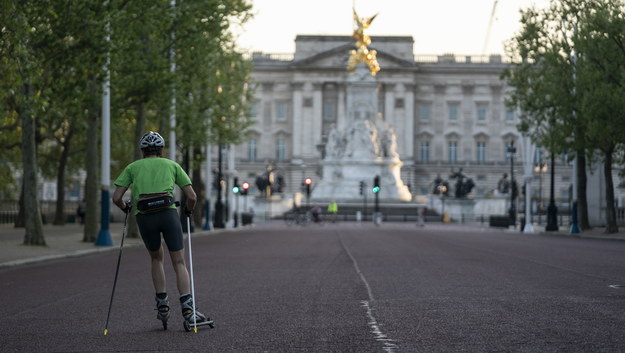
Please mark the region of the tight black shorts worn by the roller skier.
[[184, 249], [182, 226], [176, 209], [170, 208], [153, 213], [138, 214], [137, 225], [143, 243], [148, 250], [160, 249], [161, 233], [169, 251]]

